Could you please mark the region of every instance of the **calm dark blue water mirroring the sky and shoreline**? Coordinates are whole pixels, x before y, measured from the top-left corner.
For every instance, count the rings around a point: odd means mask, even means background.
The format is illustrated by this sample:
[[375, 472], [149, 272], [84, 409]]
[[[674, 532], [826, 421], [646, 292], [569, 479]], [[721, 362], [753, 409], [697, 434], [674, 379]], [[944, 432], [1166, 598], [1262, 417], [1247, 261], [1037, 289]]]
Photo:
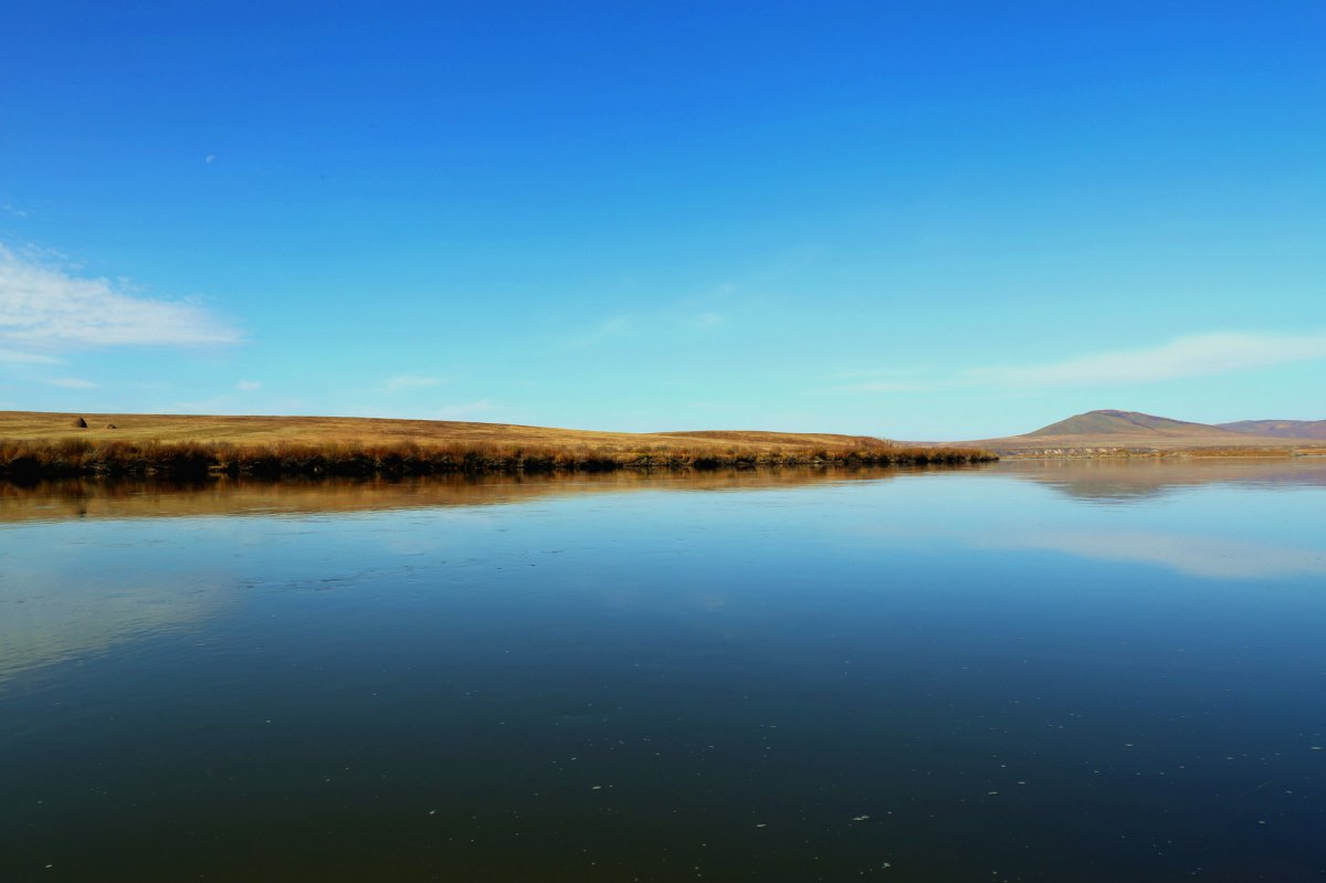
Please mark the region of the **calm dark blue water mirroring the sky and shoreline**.
[[0, 880], [1322, 880], [1326, 461], [0, 488]]

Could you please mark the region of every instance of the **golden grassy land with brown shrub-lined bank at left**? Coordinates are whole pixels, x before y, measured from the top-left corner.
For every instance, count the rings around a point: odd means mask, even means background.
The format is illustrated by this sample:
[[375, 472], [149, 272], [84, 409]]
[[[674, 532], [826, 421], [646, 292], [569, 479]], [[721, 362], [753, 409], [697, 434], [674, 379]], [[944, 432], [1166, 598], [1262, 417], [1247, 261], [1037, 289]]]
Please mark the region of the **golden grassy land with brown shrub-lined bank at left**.
[[[888, 465], [992, 459], [971, 448], [780, 432], [590, 432], [359, 418], [7, 412], [0, 472], [53, 475], [430, 475], [757, 465]], [[114, 428], [110, 428], [114, 427]], [[77, 434], [77, 435], [70, 435]]]

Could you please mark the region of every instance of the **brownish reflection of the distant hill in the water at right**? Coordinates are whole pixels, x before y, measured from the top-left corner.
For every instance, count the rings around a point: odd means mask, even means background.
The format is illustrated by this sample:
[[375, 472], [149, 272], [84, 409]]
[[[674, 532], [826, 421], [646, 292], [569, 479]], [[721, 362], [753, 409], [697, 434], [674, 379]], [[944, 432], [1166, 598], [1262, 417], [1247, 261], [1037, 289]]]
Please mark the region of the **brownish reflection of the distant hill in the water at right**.
[[991, 471], [1081, 500], [1120, 502], [1205, 484], [1326, 487], [1326, 457], [1005, 460]]

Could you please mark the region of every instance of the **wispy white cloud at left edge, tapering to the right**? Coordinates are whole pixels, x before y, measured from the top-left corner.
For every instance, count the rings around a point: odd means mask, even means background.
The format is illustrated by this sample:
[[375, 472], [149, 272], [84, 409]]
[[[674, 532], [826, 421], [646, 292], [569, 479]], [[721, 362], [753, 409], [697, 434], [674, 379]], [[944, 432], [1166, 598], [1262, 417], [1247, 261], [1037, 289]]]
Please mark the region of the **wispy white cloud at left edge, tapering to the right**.
[[0, 342], [40, 353], [240, 339], [239, 331], [196, 302], [142, 297], [127, 288], [76, 276], [0, 245]]

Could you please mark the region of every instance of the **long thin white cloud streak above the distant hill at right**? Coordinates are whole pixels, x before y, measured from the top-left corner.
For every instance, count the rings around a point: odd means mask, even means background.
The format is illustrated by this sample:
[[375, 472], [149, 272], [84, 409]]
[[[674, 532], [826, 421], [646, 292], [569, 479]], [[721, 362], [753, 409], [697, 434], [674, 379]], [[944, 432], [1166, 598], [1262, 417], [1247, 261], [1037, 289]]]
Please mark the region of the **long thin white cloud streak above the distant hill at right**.
[[1326, 359], [1326, 331], [1195, 334], [1136, 350], [1093, 353], [1044, 365], [967, 371], [969, 383], [1006, 387], [1155, 383]]

